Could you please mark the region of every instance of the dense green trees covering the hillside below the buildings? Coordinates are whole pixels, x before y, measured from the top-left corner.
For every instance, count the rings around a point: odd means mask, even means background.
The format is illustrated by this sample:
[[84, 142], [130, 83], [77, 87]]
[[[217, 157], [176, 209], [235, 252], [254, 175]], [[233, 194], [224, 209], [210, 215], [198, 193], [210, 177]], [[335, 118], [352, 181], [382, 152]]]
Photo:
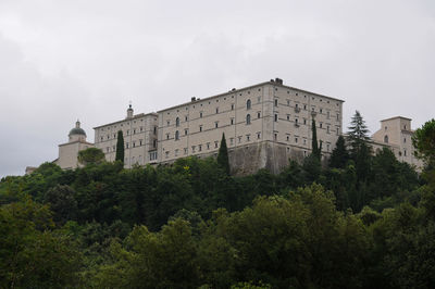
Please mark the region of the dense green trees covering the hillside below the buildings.
[[229, 175], [223, 138], [217, 160], [4, 177], [0, 288], [433, 288], [435, 120], [421, 173], [366, 134], [357, 113], [328, 166], [315, 139], [278, 175]]

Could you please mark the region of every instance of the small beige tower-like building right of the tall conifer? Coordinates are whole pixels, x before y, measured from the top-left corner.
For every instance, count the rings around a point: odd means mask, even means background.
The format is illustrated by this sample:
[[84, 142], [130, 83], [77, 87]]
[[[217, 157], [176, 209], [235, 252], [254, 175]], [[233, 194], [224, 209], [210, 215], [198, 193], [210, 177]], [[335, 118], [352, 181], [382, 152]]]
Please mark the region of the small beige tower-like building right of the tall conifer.
[[390, 149], [397, 160], [414, 165], [418, 169], [423, 167], [423, 162], [415, 158], [412, 146], [411, 118], [395, 116], [381, 121], [381, 129], [372, 135], [373, 149]]

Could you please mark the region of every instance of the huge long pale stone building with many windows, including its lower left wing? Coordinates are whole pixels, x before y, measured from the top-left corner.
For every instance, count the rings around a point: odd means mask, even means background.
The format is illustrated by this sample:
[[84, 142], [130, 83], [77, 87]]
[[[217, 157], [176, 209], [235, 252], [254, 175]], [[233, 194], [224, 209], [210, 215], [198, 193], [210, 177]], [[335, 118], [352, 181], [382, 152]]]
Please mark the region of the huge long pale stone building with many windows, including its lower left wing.
[[125, 166], [171, 163], [178, 158], [215, 155], [225, 134], [233, 173], [259, 168], [278, 172], [288, 159], [311, 152], [311, 122], [327, 156], [341, 134], [343, 100], [266, 83], [172, 106], [158, 113], [133, 114], [95, 127], [95, 146], [113, 161], [116, 133], [123, 130]]

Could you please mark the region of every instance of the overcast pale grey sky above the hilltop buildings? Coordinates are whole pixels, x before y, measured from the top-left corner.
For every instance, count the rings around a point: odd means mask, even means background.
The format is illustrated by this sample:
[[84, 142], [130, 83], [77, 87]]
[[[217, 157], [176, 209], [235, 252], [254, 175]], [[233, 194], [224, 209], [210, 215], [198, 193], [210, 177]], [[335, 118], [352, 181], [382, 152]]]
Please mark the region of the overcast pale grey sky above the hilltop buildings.
[[435, 117], [435, 1], [0, 0], [0, 177], [92, 127], [279, 77], [374, 133]]

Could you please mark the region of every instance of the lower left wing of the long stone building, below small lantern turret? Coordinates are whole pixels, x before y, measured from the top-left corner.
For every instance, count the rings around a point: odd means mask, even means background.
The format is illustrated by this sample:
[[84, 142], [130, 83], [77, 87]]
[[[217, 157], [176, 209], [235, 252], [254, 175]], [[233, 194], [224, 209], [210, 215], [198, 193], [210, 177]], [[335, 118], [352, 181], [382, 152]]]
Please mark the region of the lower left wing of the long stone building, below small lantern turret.
[[114, 123], [97, 126], [95, 146], [105, 154], [105, 160], [113, 162], [116, 155], [117, 131], [124, 137], [124, 165], [129, 168], [134, 164], [157, 163], [158, 150], [158, 114], [136, 114], [132, 104], [127, 116]]

